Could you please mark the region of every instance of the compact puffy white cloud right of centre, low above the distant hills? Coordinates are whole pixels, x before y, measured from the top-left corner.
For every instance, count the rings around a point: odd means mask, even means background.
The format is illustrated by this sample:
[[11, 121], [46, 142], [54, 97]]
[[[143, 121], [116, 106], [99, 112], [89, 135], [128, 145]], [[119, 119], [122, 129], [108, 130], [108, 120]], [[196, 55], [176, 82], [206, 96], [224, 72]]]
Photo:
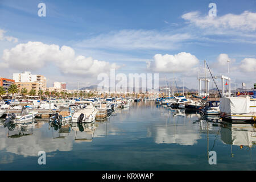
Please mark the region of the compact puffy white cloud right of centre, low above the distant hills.
[[155, 72], [188, 72], [199, 63], [196, 56], [191, 53], [180, 52], [177, 55], [156, 54], [147, 68]]

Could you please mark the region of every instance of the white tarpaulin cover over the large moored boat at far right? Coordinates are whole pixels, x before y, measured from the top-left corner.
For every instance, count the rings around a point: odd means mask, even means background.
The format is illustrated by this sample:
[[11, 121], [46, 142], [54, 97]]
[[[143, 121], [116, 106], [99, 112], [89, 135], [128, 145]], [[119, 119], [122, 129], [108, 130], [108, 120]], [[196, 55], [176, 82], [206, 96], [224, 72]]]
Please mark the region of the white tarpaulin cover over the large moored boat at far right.
[[223, 113], [250, 113], [250, 96], [221, 97], [220, 111]]

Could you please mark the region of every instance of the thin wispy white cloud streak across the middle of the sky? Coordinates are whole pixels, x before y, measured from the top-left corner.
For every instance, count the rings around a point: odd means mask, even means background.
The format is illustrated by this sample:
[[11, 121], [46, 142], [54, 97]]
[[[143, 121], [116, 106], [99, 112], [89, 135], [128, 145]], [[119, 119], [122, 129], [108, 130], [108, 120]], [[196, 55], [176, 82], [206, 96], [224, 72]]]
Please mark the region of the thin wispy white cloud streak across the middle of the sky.
[[102, 49], [177, 49], [178, 43], [191, 39], [189, 34], [171, 34], [154, 30], [121, 30], [82, 40], [76, 46]]

